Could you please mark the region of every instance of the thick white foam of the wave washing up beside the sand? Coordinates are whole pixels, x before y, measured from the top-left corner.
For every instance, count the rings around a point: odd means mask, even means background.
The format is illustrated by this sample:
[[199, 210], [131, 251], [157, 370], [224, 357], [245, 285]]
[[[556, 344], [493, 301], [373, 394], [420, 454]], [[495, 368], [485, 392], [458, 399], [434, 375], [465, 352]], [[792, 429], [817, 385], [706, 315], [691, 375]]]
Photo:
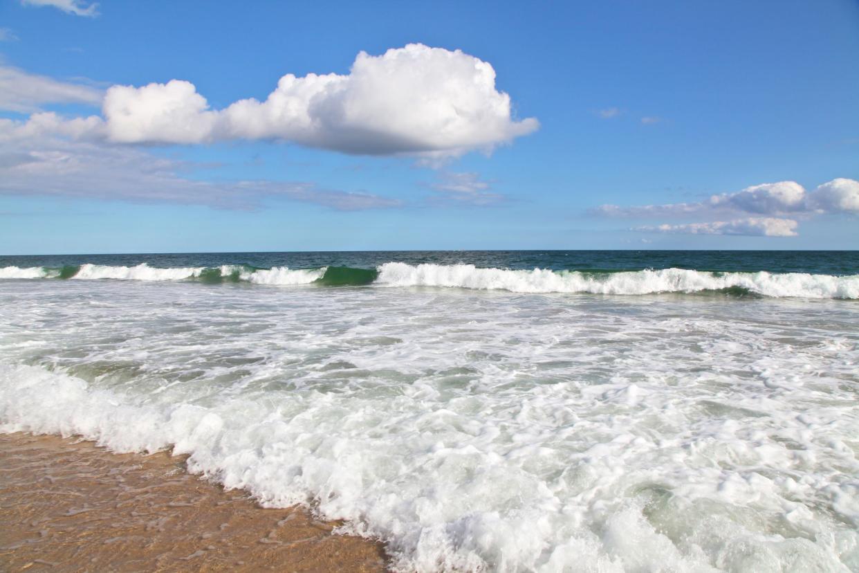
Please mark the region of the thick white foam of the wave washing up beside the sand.
[[[29, 366], [0, 366], [0, 431], [85, 436], [118, 452], [173, 445], [174, 454], [191, 454], [192, 472], [244, 488], [265, 506], [315, 500], [322, 516], [351, 521], [345, 531], [387, 540], [397, 570], [844, 569], [838, 553], [859, 537], [833, 533], [801, 500], [822, 491], [823, 499], [855, 505], [859, 492], [849, 483], [806, 474], [805, 483], [791, 485], [790, 478], [774, 482], [720, 469], [716, 461], [746, 456], [752, 466], [799, 471], [796, 460], [750, 449], [754, 432], [735, 424], [658, 444], [602, 423], [590, 430], [589, 446], [582, 442], [581, 452], [566, 451], [565, 461], [557, 460], [564, 448], [553, 444], [569, 439], [576, 425], [551, 419], [573, 405], [564, 398], [572, 392], [569, 386], [523, 395], [512, 417], [497, 418], [514, 407], [512, 396], [501, 407], [487, 401], [484, 407], [494, 413], [481, 420], [465, 417], [461, 405], [421, 407], [426, 395], [420, 389], [387, 408], [356, 395], [290, 399], [287, 393], [204, 406], [92, 388]], [[535, 416], [538, 411], [547, 417]], [[531, 422], [515, 424], [522, 416]], [[508, 424], [515, 424], [517, 436], [499, 441]], [[612, 439], [600, 443], [606, 431]], [[539, 479], [529, 468], [559, 461], [569, 469], [556, 479]], [[679, 473], [666, 471], [672, 466]], [[646, 487], [673, 487], [675, 497], [647, 509], [624, 502]], [[740, 509], [722, 513], [734, 506], [756, 508], [748, 528], [737, 523], [747, 519]], [[792, 519], [785, 521], [789, 527], [820, 539], [758, 533], [755, 512]], [[842, 515], [859, 519], [852, 509]]]

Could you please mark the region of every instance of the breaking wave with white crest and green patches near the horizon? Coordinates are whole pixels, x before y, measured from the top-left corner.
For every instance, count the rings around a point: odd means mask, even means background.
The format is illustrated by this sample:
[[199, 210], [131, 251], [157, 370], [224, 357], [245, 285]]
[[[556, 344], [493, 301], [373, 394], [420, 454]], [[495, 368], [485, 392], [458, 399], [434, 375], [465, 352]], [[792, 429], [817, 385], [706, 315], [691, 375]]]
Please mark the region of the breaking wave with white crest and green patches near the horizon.
[[250, 265], [159, 268], [85, 264], [80, 266], [0, 268], [0, 278], [113, 279], [137, 281], [197, 280], [204, 283], [245, 282], [270, 285], [447, 287], [508, 290], [516, 293], [593, 293], [648, 295], [655, 293], [722, 292], [732, 296], [859, 299], [859, 275], [801, 272], [714, 272], [689, 269], [643, 271], [551, 271], [480, 268], [474, 265], [407, 265], [385, 263], [377, 269], [324, 266], [290, 269]]

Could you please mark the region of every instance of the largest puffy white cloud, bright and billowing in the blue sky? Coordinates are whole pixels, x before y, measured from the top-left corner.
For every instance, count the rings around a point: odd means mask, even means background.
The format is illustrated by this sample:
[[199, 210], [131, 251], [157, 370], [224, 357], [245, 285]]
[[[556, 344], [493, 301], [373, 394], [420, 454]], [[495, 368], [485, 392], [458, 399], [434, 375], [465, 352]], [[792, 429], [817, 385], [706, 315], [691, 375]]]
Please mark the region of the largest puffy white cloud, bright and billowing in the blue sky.
[[514, 119], [487, 62], [410, 44], [361, 52], [350, 74], [283, 76], [265, 101], [210, 110], [190, 82], [116, 86], [104, 102], [107, 133], [122, 143], [281, 139], [362, 155], [456, 156], [535, 131]]

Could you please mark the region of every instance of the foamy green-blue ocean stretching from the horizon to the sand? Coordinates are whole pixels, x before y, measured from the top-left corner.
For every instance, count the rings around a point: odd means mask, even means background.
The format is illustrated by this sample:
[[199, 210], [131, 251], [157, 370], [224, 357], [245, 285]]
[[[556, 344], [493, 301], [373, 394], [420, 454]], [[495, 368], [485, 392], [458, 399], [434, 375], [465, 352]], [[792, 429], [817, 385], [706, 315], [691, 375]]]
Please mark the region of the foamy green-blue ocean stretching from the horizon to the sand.
[[0, 431], [395, 570], [859, 570], [859, 252], [0, 257]]

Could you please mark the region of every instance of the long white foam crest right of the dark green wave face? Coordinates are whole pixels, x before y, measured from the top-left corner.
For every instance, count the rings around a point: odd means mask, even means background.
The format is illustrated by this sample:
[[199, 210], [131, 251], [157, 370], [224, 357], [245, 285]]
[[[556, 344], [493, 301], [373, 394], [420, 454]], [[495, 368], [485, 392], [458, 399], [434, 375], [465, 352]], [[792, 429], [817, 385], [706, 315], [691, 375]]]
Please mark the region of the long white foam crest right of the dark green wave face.
[[646, 295], [660, 292], [692, 293], [740, 287], [764, 296], [859, 298], [859, 276], [834, 277], [800, 272], [726, 272], [716, 274], [686, 269], [612, 273], [579, 271], [511, 271], [474, 265], [406, 265], [379, 267], [377, 283], [387, 286], [436, 286], [521, 293], [596, 293]]

